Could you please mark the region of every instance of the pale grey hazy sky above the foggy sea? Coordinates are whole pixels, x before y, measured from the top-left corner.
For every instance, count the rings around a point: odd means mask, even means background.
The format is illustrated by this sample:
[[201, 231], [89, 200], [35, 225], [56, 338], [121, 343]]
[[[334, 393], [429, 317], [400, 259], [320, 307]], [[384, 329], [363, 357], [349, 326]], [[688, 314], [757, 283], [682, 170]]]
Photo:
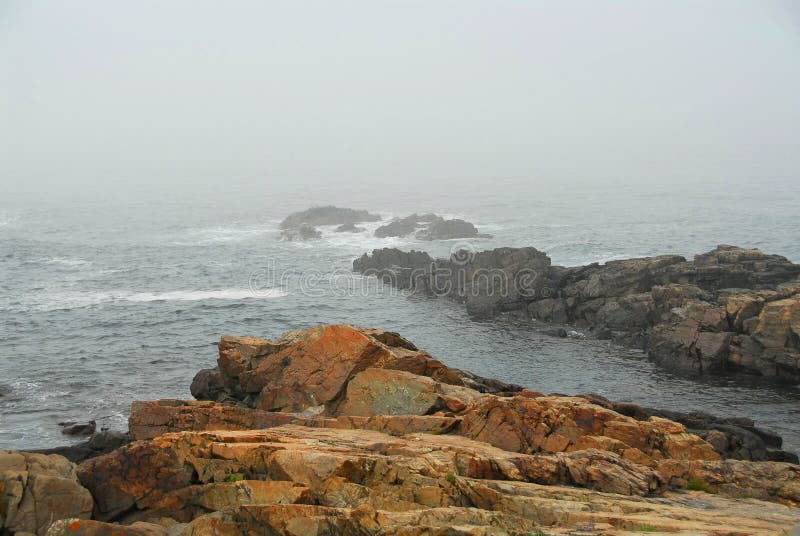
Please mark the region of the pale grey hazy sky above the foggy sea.
[[0, 193], [800, 180], [800, 2], [0, 0]]

